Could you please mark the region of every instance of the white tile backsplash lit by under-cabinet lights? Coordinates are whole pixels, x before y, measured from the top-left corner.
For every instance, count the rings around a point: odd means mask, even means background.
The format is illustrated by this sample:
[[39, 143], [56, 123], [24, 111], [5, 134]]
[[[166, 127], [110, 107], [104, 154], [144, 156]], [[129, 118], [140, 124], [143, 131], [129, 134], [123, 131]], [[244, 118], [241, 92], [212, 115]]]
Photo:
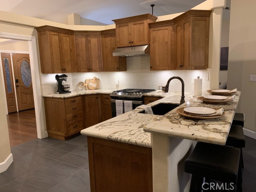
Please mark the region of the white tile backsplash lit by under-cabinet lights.
[[[185, 92], [193, 92], [194, 79], [200, 76], [203, 79], [203, 91], [210, 87], [210, 81], [205, 80], [205, 72], [207, 71], [210, 74], [210, 70], [150, 71], [150, 56], [128, 57], [126, 62], [127, 71], [125, 72], [68, 73], [66, 74], [68, 76], [67, 82], [64, 83], [71, 84], [73, 91], [80, 90], [81, 88], [78, 87], [79, 82], [84, 82], [85, 79], [94, 78], [95, 76], [100, 79], [100, 89], [145, 88], [158, 90], [158, 86], [165, 86], [170, 77], [179, 76], [184, 80]], [[43, 94], [55, 92], [57, 87], [55, 75], [41, 74]], [[116, 78], [119, 80], [119, 85], [116, 85]], [[180, 81], [172, 80], [169, 90], [181, 91]]]

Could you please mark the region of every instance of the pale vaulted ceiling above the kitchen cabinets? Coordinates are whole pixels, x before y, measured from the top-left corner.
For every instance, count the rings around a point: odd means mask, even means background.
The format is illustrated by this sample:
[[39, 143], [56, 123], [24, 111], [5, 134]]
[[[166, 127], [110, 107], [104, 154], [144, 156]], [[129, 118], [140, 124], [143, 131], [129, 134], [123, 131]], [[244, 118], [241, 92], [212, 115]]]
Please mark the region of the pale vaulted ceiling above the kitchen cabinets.
[[0, 0], [0, 10], [67, 24], [70, 14], [114, 24], [112, 20], [152, 13], [162, 16], [185, 12], [205, 0]]

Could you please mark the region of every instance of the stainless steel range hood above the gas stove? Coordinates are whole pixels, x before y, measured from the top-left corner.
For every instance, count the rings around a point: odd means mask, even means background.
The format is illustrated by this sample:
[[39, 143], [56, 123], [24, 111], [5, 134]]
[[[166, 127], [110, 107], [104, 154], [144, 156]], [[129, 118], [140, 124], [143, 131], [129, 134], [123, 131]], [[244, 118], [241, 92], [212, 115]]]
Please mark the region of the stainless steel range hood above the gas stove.
[[131, 57], [149, 55], [149, 45], [116, 48], [113, 56]]

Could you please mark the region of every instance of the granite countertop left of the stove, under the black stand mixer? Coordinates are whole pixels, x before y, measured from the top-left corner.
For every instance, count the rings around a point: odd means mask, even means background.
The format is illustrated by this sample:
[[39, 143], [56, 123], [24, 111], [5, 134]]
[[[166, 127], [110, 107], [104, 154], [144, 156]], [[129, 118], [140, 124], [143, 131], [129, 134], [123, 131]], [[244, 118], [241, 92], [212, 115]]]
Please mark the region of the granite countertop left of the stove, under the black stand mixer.
[[54, 98], [69, 98], [80, 95], [90, 95], [90, 94], [110, 94], [114, 89], [98, 89], [98, 90], [77, 90], [72, 91], [71, 93], [65, 94], [44, 94], [43, 97], [54, 97]]

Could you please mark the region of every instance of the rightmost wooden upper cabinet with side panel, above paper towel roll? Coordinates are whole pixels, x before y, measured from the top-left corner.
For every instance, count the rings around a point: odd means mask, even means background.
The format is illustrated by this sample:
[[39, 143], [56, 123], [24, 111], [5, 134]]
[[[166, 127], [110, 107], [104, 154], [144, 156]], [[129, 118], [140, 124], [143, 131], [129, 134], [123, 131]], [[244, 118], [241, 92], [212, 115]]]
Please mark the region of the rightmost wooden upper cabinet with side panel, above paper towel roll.
[[172, 69], [208, 68], [211, 10], [190, 10], [174, 18], [175, 52]]

